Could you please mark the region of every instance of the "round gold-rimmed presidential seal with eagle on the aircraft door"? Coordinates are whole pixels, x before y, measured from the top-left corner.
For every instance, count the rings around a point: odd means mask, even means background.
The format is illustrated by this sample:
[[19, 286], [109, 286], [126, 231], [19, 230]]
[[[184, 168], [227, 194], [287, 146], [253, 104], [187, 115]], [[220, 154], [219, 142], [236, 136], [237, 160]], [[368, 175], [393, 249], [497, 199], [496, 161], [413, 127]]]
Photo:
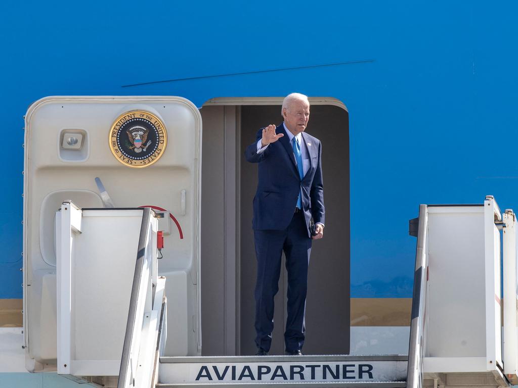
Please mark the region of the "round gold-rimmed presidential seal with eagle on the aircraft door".
[[112, 154], [123, 165], [148, 167], [164, 153], [167, 132], [164, 123], [154, 114], [127, 112], [111, 126], [109, 142]]

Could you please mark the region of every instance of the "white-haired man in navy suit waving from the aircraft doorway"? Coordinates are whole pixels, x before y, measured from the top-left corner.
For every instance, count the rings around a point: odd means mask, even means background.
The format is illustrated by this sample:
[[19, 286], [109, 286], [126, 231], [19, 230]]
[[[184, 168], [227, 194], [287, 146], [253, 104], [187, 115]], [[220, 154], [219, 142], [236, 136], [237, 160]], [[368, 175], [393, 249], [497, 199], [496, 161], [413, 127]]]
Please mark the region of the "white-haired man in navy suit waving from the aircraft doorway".
[[270, 349], [282, 251], [288, 275], [285, 351], [302, 354], [311, 241], [322, 238], [324, 231], [322, 146], [305, 132], [308, 97], [286, 96], [281, 114], [284, 122], [261, 128], [245, 151], [249, 162], [259, 163], [252, 222], [257, 256], [256, 355], [267, 355]]

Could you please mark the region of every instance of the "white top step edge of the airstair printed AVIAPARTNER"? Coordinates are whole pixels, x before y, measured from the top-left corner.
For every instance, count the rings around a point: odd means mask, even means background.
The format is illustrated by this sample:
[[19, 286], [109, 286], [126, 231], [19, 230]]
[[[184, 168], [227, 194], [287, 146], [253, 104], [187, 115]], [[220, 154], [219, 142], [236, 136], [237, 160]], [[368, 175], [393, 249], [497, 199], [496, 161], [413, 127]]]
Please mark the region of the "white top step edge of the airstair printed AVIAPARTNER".
[[405, 387], [406, 355], [162, 357], [159, 387], [191, 385]]

